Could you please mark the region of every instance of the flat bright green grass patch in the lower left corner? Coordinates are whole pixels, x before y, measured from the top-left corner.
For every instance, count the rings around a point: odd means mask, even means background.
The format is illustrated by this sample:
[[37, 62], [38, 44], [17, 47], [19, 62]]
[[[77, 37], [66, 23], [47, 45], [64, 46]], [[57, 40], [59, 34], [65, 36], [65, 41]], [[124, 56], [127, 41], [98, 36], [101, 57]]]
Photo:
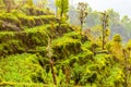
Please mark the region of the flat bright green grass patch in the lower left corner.
[[0, 76], [4, 82], [33, 83], [32, 76], [43, 73], [36, 54], [15, 54], [0, 60]]

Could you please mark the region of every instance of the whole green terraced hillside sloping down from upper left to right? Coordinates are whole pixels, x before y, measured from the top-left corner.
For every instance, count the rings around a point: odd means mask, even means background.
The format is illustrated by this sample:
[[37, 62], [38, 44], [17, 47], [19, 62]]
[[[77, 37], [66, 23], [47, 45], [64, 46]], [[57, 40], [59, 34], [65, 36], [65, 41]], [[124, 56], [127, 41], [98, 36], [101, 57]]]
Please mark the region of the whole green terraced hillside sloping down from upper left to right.
[[124, 66], [52, 12], [0, 13], [0, 87], [123, 87]]

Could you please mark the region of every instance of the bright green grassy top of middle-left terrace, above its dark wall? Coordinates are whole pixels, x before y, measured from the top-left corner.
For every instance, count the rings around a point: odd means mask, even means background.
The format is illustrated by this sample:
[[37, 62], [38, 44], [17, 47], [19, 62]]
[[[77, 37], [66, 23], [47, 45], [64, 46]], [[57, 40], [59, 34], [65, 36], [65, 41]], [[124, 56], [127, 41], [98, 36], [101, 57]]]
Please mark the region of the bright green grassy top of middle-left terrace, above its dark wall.
[[[70, 26], [61, 25], [60, 28], [59, 24], [51, 25], [41, 25], [36, 26], [33, 28], [26, 28], [25, 30], [21, 32], [0, 32], [0, 41], [5, 42], [7, 40], [12, 39], [26, 39], [26, 38], [38, 38], [38, 39], [46, 39], [48, 36], [56, 36], [63, 35], [64, 33], [70, 32]], [[63, 29], [63, 32], [62, 32]]]

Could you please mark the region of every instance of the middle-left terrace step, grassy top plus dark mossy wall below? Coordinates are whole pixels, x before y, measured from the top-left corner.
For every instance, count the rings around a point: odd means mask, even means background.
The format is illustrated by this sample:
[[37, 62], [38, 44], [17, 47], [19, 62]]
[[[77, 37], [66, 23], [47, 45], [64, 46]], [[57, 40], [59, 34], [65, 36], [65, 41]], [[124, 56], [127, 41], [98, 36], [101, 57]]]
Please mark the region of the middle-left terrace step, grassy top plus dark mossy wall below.
[[53, 40], [66, 36], [64, 34], [69, 32], [71, 27], [67, 24], [61, 24], [60, 27], [59, 24], [46, 24], [21, 32], [0, 32], [0, 55], [23, 52], [43, 54], [44, 51], [36, 48], [47, 46], [49, 36]]

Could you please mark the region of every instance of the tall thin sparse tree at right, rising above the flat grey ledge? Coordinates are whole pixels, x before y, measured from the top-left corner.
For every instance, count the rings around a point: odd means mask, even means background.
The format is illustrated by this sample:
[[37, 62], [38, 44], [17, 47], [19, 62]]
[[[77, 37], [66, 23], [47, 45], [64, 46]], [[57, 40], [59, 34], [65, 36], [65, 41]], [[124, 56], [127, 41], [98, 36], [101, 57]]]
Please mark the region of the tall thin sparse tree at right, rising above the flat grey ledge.
[[104, 50], [105, 48], [105, 33], [106, 33], [106, 28], [108, 26], [108, 14], [105, 12], [102, 13], [102, 27], [103, 27], [103, 36], [102, 36], [102, 40], [103, 40], [103, 46], [102, 49]]

